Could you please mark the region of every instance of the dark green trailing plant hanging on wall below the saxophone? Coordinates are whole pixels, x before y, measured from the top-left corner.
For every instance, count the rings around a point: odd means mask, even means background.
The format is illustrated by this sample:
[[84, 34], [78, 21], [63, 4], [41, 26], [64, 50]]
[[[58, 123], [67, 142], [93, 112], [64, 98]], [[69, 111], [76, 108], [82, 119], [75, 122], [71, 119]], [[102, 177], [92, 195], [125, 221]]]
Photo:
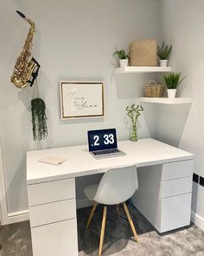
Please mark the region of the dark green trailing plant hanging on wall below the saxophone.
[[33, 140], [41, 141], [48, 136], [47, 116], [45, 114], [46, 105], [41, 98], [35, 98], [31, 101]]

